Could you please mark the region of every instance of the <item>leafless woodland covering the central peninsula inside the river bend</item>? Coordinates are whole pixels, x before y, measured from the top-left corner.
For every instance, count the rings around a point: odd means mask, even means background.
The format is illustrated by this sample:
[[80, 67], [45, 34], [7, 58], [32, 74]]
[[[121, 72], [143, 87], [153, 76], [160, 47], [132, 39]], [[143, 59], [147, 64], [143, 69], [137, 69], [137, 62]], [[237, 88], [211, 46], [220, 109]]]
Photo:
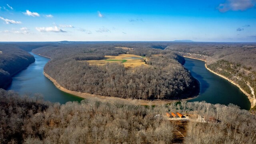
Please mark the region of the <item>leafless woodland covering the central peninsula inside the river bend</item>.
[[[196, 95], [198, 84], [182, 66], [184, 58], [170, 50], [134, 48], [123, 50], [111, 44], [59, 44], [34, 49], [51, 57], [44, 71], [69, 90], [132, 99], [174, 99]], [[146, 56], [148, 66], [127, 69], [123, 64], [90, 65], [105, 55]], [[152, 56], [161, 54], [160, 56]]]

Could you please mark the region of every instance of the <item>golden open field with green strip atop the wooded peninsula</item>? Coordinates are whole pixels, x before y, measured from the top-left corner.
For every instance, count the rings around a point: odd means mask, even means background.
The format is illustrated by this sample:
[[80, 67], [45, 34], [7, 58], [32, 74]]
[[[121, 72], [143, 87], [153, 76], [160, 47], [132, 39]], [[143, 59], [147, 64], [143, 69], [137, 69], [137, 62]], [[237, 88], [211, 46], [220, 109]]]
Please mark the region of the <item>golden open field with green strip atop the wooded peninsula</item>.
[[142, 56], [137, 56], [134, 54], [119, 54], [118, 56], [105, 56], [104, 60], [87, 60], [89, 64], [94, 65], [104, 65], [108, 62], [118, 62], [124, 64], [125, 68], [135, 68], [138, 66], [148, 66], [143, 62], [144, 58]]

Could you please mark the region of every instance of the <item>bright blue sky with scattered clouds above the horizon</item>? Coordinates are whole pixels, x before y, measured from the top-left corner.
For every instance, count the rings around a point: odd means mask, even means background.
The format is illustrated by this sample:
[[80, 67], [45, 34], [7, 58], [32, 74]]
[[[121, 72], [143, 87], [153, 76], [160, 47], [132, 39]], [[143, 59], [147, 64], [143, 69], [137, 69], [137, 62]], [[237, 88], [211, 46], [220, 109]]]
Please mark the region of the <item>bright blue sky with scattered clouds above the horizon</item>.
[[1, 0], [0, 41], [256, 42], [256, 0]]

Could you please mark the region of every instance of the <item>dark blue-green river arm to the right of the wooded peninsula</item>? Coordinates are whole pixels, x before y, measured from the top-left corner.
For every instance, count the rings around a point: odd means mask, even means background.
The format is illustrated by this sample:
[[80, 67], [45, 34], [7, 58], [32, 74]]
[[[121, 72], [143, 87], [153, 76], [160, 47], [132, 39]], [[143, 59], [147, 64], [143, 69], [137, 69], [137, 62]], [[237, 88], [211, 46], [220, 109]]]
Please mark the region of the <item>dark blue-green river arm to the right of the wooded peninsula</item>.
[[190, 70], [192, 76], [200, 82], [200, 94], [197, 98], [189, 100], [206, 101], [212, 104], [236, 104], [242, 109], [250, 109], [250, 101], [242, 91], [216, 74], [208, 71], [204, 61], [185, 58], [184, 66]]

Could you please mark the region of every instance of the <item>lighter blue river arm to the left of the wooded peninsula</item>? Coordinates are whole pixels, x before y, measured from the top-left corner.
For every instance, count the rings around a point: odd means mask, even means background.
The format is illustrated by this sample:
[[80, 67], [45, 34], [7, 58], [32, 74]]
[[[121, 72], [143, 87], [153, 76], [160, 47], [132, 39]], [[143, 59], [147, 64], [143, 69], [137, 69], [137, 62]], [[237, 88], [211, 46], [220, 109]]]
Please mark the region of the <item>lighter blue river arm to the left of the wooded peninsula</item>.
[[13, 81], [8, 90], [14, 90], [20, 94], [29, 93], [31, 96], [40, 93], [44, 96], [44, 100], [60, 102], [61, 104], [82, 100], [82, 98], [62, 92], [44, 76], [44, 65], [50, 60], [49, 58], [38, 56], [32, 52], [29, 53], [35, 57], [36, 61], [12, 78]]

